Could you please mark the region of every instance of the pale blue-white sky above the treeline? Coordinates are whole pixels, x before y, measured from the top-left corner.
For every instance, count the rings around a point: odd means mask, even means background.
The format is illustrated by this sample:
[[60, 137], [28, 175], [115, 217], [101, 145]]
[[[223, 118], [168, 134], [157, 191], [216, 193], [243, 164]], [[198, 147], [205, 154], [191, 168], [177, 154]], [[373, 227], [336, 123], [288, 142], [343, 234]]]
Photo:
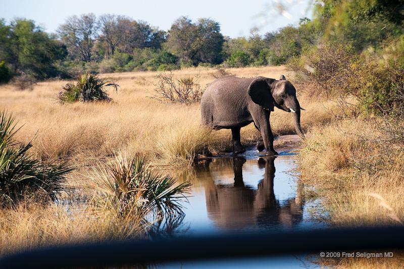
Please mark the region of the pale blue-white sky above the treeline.
[[[279, 5], [283, 9], [279, 9]], [[221, 25], [223, 35], [232, 38], [248, 36], [257, 27], [261, 34], [298, 24], [303, 17], [312, 17], [311, 0], [0, 0], [0, 18], [34, 20], [47, 32], [55, 32], [72, 15], [106, 13], [125, 15], [168, 30], [174, 20], [188, 16], [212, 18]]]

